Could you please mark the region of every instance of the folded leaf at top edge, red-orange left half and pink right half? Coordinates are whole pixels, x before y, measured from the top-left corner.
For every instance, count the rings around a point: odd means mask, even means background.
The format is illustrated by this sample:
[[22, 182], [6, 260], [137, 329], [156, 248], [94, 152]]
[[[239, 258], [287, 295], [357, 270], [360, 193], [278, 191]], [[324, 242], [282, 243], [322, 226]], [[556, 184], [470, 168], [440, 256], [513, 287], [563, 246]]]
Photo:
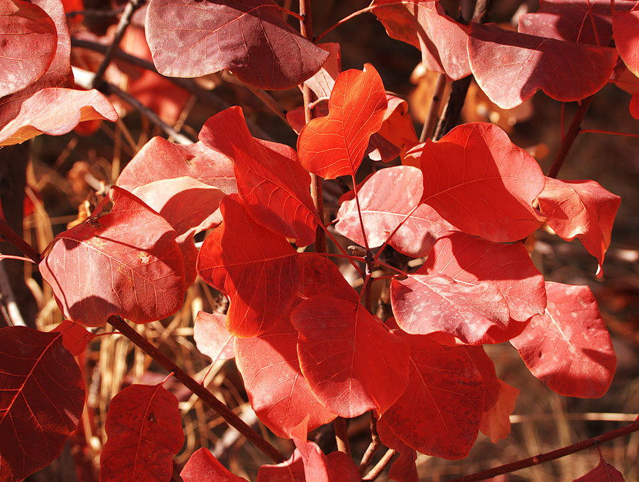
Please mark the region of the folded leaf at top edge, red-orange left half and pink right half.
[[422, 51], [428, 70], [459, 80], [470, 74], [466, 26], [447, 16], [435, 0], [373, 0], [371, 7], [392, 38]]

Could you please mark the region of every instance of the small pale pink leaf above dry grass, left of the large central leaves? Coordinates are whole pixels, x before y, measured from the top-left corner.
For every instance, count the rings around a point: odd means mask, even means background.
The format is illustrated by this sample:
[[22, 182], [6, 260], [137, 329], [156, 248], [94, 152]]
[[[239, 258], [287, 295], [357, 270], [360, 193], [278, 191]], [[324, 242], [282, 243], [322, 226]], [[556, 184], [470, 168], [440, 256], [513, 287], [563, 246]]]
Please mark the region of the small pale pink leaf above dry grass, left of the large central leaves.
[[229, 360], [235, 356], [235, 336], [226, 329], [225, 314], [197, 312], [193, 324], [193, 338], [200, 353], [212, 361]]

